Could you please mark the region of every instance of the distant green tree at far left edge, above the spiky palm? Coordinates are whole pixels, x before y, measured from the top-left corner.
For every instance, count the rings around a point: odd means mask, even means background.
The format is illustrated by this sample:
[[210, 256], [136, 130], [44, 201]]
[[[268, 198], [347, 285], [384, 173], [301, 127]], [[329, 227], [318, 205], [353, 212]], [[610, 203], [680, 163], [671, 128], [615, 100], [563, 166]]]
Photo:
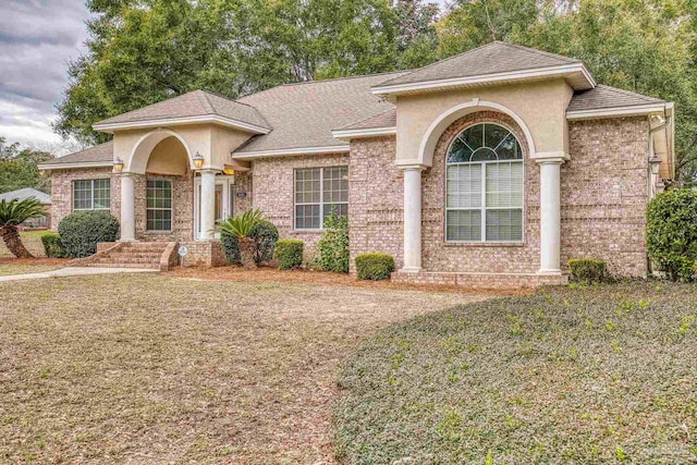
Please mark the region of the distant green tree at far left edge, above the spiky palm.
[[23, 187], [50, 192], [50, 178], [37, 166], [52, 158], [47, 151], [21, 148], [17, 143], [8, 145], [0, 136], [0, 194]]

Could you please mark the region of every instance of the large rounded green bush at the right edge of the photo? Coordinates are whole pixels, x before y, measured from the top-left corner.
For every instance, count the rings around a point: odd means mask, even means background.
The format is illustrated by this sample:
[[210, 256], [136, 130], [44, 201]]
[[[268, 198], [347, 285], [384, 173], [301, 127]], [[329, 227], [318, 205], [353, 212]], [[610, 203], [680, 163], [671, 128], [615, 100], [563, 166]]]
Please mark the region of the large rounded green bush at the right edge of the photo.
[[697, 260], [697, 192], [680, 188], [653, 197], [646, 232], [651, 259], [673, 281], [693, 281]]

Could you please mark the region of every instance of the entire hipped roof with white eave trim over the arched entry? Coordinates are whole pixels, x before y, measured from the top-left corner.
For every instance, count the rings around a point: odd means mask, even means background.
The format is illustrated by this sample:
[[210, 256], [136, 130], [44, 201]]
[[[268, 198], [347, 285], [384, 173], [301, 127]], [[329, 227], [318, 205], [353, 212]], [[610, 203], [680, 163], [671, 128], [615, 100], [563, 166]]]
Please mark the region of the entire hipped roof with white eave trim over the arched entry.
[[100, 121], [98, 131], [152, 127], [163, 124], [217, 122], [256, 134], [271, 130], [256, 108], [206, 90], [194, 90]]

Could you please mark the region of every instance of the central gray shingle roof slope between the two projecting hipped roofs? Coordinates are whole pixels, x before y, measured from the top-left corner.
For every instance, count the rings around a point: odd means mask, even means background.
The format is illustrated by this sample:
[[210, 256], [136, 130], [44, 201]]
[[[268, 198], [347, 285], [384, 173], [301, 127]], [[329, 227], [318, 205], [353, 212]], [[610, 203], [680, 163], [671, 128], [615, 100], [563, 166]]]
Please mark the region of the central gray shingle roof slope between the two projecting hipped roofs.
[[240, 99], [257, 108], [273, 130], [254, 137], [235, 154], [302, 147], [340, 147], [332, 130], [381, 114], [392, 103], [370, 87], [404, 72], [289, 84]]

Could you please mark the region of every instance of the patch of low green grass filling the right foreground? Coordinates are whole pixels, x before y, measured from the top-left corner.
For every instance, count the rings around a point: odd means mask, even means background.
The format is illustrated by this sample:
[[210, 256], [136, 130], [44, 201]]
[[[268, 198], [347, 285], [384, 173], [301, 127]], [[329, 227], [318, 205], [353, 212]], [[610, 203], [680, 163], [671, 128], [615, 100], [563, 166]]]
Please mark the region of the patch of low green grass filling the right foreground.
[[346, 464], [697, 463], [697, 287], [543, 290], [396, 323], [342, 365]]

